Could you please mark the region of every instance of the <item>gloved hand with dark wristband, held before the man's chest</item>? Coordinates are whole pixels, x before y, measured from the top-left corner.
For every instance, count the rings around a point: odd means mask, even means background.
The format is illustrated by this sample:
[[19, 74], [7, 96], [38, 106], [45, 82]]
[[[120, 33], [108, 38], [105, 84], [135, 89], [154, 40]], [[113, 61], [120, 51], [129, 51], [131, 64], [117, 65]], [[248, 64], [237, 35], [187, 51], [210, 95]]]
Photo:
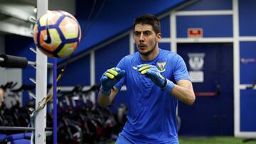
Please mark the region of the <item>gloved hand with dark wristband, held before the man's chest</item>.
[[166, 89], [168, 92], [172, 91], [174, 89], [174, 83], [171, 82], [169, 79], [165, 79], [157, 70], [156, 66], [154, 65], [138, 65], [139, 72], [141, 74], [146, 75], [146, 77], [149, 77], [154, 84], [161, 87], [161, 89]]

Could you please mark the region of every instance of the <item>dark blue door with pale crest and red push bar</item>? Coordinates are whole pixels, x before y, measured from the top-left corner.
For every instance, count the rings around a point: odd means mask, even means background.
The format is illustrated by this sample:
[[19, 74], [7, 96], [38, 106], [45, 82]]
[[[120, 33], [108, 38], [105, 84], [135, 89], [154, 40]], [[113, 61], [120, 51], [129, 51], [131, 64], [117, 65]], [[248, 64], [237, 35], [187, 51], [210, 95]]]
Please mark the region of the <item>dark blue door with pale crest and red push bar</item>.
[[196, 101], [179, 103], [180, 135], [233, 135], [233, 43], [180, 43]]

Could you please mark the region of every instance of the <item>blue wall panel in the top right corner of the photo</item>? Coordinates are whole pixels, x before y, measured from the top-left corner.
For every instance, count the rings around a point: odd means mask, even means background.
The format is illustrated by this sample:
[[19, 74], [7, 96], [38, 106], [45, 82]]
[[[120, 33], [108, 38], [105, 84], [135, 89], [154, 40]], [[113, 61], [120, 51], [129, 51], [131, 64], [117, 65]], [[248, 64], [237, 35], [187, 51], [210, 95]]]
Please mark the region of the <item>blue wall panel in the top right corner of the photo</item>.
[[241, 36], [256, 36], [256, 1], [239, 1], [239, 25]]

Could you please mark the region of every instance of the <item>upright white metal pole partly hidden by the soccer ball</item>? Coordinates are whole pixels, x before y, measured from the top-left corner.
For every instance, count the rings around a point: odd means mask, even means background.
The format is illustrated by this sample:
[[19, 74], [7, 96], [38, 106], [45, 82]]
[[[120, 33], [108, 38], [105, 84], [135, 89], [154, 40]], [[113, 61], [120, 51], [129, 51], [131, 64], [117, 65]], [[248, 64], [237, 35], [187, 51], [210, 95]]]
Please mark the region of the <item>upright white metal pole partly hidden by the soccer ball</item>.
[[[48, 0], [37, 0], [37, 18], [48, 11]], [[36, 108], [47, 95], [47, 57], [36, 48]], [[35, 143], [46, 144], [46, 106], [35, 118]]]

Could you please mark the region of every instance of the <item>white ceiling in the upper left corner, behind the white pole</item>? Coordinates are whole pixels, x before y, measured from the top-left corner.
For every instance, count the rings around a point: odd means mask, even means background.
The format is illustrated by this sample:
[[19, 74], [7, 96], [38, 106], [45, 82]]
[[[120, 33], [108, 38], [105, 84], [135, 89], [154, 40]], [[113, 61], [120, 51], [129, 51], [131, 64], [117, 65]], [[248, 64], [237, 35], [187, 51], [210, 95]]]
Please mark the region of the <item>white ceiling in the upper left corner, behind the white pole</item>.
[[[32, 37], [36, 0], [0, 0], [0, 33]], [[48, 0], [49, 10], [75, 14], [75, 0]]]

